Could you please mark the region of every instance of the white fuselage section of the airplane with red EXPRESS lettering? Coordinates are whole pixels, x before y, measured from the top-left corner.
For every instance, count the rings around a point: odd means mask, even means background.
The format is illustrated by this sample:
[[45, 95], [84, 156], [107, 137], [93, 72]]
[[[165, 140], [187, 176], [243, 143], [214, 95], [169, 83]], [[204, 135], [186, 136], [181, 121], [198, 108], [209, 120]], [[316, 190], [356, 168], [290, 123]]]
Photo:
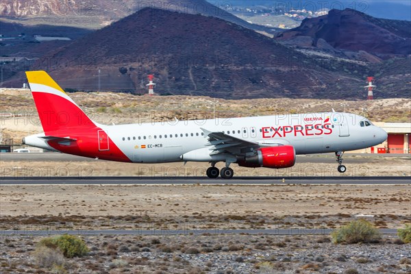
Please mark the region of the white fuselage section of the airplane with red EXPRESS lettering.
[[101, 127], [132, 162], [160, 163], [183, 161], [182, 155], [197, 149], [211, 150], [203, 129], [262, 147], [292, 145], [297, 154], [351, 151], [386, 140], [383, 129], [364, 121], [356, 114], [328, 112]]

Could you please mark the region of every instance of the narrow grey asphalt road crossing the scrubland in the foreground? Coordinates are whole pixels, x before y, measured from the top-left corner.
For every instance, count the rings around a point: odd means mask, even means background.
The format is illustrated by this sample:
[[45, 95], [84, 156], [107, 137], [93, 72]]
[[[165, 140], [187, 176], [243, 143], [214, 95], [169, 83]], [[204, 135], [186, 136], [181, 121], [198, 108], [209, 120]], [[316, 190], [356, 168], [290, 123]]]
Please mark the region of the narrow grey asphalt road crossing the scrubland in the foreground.
[[[332, 229], [158, 229], [158, 230], [0, 230], [0, 235], [45, 236], [45, 235], [221, 235], [221, 234], [251, 234], [251, 235], [327, 235]], [[379, 229], [382, 234], [397, 234], [397, 229]]]

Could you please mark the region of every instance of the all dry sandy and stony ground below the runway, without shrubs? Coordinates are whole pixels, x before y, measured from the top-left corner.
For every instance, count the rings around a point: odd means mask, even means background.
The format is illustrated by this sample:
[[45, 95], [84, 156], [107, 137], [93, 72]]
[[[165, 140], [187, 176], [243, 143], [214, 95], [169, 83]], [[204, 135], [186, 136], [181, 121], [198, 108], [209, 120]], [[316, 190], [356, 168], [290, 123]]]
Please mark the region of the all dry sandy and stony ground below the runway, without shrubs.
[[[214, 229], [221, 234], [85, 236], [90, 253], [41, 253], [43, 236], [1, 235], [1, 273], [410, 273], [410, 244], [384, 235], [336, 245], [329, 235], [226, 229], [410, 223], [407, 186], [1, 186], [1, 230]], [[47, 260], [45, 260], [47, 258]], [[59, 266], [47, 264], [58, 262]]]

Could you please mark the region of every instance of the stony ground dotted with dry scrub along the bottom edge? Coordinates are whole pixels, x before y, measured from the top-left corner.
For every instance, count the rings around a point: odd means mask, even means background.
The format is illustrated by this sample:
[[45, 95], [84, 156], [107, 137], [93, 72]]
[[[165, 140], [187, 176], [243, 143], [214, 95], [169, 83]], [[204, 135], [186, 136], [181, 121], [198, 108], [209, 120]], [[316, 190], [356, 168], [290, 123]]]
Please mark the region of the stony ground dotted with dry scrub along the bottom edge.
[[[0, 238], [2, 273], [396, 273], [411, 271], [396, 236], [334, 245], [329, 236], [82, 236], [90, 252], [64, 258], [38, 249], [38, 236]], [[44, 239], [43, 239], [44, 240]], [[54, 264], [38, 264], [38, 253]], [[28, 271], [28, 272], [27, 272]]]

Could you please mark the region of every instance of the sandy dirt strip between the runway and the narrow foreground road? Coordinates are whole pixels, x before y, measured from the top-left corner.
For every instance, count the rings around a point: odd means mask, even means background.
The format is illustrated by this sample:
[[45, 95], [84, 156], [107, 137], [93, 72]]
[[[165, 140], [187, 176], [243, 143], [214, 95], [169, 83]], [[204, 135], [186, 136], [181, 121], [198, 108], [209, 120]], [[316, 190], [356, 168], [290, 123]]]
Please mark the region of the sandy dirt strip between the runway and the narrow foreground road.
[[[136, 228], [200, 223], [201, 228], [333, 228], [356, 215], [378, 227], [410, 222], [410, 186], [1, 186], [1, 224]], [[223, 223], [221, 223], [223, 222]]]

